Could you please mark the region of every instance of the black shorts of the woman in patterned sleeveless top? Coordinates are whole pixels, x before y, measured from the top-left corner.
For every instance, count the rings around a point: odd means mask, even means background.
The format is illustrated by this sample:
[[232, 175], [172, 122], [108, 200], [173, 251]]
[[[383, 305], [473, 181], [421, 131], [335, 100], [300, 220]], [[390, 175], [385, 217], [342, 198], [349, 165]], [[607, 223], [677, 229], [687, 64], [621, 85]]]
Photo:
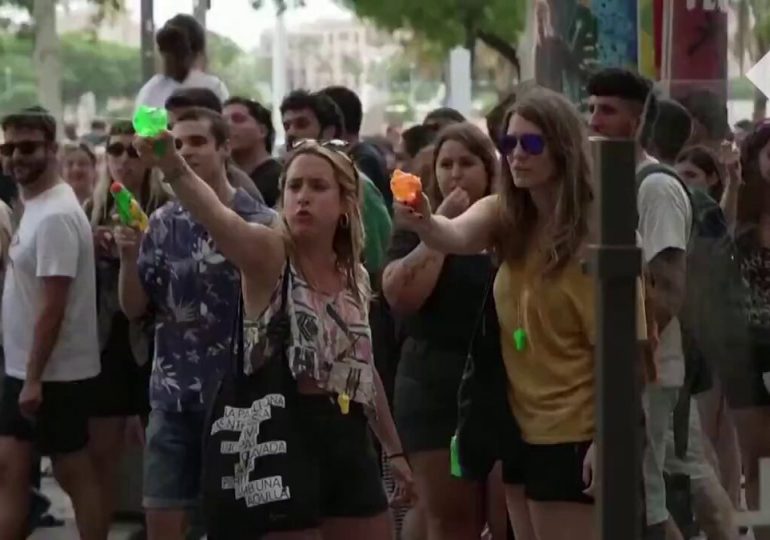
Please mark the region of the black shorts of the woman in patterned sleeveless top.
[[320, 515], [373, 517], [388, 499], [363, 408], [351, 403], [343, 415], [327, 396], [302, 396], [298, 417], [319, 470]]

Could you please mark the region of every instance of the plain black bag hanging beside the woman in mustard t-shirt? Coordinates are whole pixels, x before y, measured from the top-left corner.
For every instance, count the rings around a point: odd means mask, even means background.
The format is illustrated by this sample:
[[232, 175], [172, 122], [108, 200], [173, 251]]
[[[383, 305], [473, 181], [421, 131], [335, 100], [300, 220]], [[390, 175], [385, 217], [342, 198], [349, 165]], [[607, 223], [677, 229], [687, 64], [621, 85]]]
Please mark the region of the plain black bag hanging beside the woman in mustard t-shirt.
[[489, 278], [481, 310], [474, 323], [465, 370], [457, 392], [456, 457], [459, 476], [483, 481], [495, 462], [520, 458], [521, 432], [508, 404], [508, 376], [500, 348]]

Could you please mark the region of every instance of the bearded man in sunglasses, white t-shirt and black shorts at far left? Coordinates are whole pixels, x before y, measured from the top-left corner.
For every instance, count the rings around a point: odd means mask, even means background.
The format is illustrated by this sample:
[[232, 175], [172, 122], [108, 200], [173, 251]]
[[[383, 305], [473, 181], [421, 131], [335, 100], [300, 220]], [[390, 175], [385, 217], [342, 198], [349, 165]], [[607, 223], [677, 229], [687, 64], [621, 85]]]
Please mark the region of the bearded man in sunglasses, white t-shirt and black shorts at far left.
[[56, 122], [34, 107], [2, 121], [0, 153], [24, 199], [2, 306], [0, 540], [23, 537], [33, 450], [51, 456], [80, 537], [105, 540], [87, 452], [88, 396], [100, 370], [91, 227], [57, 173]]

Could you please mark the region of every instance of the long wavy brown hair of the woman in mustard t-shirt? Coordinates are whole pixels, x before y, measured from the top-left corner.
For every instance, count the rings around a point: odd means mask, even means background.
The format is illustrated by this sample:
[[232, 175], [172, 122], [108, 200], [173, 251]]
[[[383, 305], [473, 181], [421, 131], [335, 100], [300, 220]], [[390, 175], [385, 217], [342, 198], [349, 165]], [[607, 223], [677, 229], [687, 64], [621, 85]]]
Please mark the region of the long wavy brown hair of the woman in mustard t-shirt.
[[[591, 158], [585, 123], [567, 98], [537, 88], [523, 96], [508, 112], [508, 129], [514, 115], [538, 126], [555, 164], [556, 207], [548, 224], [543, 275], [559, 270], [583, 248], [590, 234], [593, 190]], [[511, 168], [502, 157], [499, 227], [495, 249], [502, 260], [517, 261], [526, 255], [537, 223], [537, 210], [529, 191], [516, 187]]]

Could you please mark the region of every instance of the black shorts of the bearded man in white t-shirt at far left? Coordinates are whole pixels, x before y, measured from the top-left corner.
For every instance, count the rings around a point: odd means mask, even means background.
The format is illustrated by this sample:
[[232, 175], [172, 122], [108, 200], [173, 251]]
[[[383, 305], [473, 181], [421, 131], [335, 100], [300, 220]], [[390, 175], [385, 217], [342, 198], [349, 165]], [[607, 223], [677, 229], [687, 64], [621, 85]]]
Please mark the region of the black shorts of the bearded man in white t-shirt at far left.
[[0, 437], [33, 443], [43, 455], [70, 454], [88, 444], [91, 380], [44, 382], [43, 403], [31, 421], [21, 414], [24, 381], [5, 377], [0, 397]]

